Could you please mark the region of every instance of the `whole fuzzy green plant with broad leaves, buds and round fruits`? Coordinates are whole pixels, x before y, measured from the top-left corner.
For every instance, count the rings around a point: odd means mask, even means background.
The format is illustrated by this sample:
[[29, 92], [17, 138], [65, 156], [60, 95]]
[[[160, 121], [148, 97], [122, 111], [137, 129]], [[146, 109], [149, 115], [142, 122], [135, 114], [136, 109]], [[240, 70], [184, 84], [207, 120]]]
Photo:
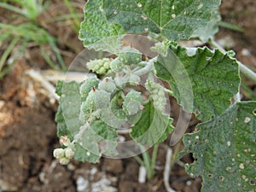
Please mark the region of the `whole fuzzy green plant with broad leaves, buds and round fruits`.
[[[96, 76], [57, 84], [61, 99], [55, 119], [64, 148], [55, 149], [54, 155], [61, 164], [72, 158], [97, 162], [102, 155], [124, 158], [137, 150], [147, 157], [145, 150], [165, 141], [173, 130], [171, 143], [177, 143], [183, 135], [177, 133], [184, 129], [171, 125], [168, 94], [202, 122], [184, 135], [180, 154], [194, 155], [186, 172], [203, 178], [201, 190], [255, 191], [256, 102], [239, 99], [239, 73], [244, 67], [232, 51], [178, 45], [180, 40], [212, 41], [218, 32], [220, 3], [89, 0], [85, 4], [79, 39], [86, 48], [109, 55], [87, 62]], [[125, 45], [122, 39], [127, 34], [151, 39], [157, 54], [150, 57]], [[129, 129], [130, 140], [125, 136], [129, 142], [120, 140], [122, 128]], [[156, 150], [152, 155], [155, 159]]]

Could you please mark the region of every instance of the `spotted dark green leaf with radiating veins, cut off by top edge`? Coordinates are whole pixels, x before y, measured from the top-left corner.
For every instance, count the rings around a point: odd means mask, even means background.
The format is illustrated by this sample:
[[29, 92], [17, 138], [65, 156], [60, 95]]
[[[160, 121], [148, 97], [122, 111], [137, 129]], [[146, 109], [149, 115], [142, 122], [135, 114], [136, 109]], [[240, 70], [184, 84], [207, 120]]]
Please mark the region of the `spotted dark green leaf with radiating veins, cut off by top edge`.
[[102, 0], [108, 21], [126, 32], [161, 34], [169, 40], [189, 39], [208, 25], [220, 0]]

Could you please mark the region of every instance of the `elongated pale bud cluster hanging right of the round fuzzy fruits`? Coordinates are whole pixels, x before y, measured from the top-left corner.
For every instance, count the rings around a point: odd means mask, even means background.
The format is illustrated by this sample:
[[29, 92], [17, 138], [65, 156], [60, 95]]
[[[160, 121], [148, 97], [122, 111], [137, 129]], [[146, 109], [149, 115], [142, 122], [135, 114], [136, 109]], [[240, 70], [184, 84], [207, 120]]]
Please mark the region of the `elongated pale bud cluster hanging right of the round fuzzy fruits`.
[[152, 96], [154, 107], [160, 111], [164, 110], [166, 106], [166, 93], [164, 88], [150, 79], [147, 80], [145, 87], [149, 91], [150, 96]]

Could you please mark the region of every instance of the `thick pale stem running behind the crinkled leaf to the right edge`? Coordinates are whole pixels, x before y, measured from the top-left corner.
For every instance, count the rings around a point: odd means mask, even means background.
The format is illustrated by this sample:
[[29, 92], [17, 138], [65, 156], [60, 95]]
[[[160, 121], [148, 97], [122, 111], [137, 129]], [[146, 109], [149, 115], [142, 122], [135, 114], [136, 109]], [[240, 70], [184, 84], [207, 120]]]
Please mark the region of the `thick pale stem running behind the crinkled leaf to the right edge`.
[[[222, 48], [216, 41], [213, 39], [210, 41], [210, 44], [214, 46], [215, 48], [219, 49], [222, 53], [226, 53], [226, 50]], [[244, 64], [242, 64], [240, 61], [237, 61], [239, 70], [241, 73], [243, 73], [247, 79], [250, 79], [253, 81], [253, 83], [256, 83], [256, 73], [253, 72], [250, 68], [246, 67]]]

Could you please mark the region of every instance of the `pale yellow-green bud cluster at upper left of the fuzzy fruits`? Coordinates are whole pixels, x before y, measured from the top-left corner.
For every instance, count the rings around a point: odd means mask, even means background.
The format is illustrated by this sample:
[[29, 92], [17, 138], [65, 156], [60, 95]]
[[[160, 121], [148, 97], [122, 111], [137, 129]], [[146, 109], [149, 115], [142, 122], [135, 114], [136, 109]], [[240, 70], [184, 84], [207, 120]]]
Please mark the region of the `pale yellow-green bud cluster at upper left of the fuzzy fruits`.
[[87, 67], [97, 74], [106, 74], [110, 69], [110, 61], [108, 58], [103, 58], [101, 60], [91, 60], [87, 62]]

